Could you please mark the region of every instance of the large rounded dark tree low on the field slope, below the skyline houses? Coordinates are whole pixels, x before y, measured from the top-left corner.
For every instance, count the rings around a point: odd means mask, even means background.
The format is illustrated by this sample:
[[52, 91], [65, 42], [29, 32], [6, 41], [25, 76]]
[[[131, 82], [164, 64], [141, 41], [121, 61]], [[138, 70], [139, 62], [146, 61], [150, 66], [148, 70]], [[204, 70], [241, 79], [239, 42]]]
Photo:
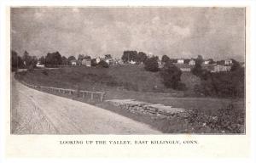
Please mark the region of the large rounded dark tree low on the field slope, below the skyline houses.
[[183, 90], [185, 85], [180, 82], [181, 75], [182, 71], [179, 70], [177, 66], [173, 65], [170, 61], [167, 61], [163, 69], [160, 70], [162, 82], [168, 88]]

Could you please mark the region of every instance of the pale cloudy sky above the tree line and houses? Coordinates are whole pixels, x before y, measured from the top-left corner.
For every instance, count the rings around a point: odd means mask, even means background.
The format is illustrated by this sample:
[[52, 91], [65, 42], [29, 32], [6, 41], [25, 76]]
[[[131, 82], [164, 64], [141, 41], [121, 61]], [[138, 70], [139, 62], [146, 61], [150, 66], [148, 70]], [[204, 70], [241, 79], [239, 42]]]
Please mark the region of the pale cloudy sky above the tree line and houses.
[[12, 8], [11, 48], [20, 55], [112, 54], [125, 50], [170, 58], [245, 55], [244, 8]]

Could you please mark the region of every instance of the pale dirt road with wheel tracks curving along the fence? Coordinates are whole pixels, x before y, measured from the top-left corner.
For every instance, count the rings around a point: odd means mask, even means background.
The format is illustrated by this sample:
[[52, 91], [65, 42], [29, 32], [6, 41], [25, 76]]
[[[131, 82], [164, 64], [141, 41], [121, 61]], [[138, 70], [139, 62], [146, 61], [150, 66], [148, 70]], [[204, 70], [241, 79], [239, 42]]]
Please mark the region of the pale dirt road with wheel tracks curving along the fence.
[[26, 87], [12, 78], [14, 134], [158, 134], [122, 115]]

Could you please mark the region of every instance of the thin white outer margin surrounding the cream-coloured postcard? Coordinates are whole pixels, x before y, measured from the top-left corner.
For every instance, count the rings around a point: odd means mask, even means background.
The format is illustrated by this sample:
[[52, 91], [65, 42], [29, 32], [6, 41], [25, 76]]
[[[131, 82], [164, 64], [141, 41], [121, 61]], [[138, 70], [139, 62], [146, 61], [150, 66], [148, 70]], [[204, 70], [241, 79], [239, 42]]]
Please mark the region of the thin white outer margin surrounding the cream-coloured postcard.
[[[16, 0], [16, 1], [7, 1], [7, 0], [2, 0], [1, 2], [1, 8], [0, 8], [0, 12], [1, 12], [1, 34], [0, 34], [0, 37], [1, 37], [1, 47], [0, 47], [0, 50], [1, 50], [1, 59], [0, 59], [0, 70], [1, 70], [1, 77], [0, 77], [0, 90], [1, 90], [1, 98], [0, 98], [0, 104], [2, 104], [0, 107], [1, 108], [1, 117], [0, 117], [0, 121], [1, 121], [1, 141], [0, 141], [0, 144], [1, 144], [1, 155], [0, 155], [0, 158], [3, 159], [4, 158], [4, 143], [5, 143], [5, 138], [3, 137], [5, 135], [5, 131], [6, 131], [6, 128], [5, 127], [5, 122], [6, 122], [6, 118], [7, 117], [4, 117], [5, 112], [4, 110], [6, 110], [3, 106], [4, 103], [6, 103], [6, 88], [5, 86], [7, 85], [7, 83], [9, 82], [8, 80], [6, 80], [6, 71], [9, 71], [8, 69], [8, 60], [9, 60], [9, 56], [7, 55], [4, 55], [5, 53], [8, 53], [8, 49], [6, 49], [6, 33], [7, 32], [7, 29], [6, 29], [6, 8], [9, 7], [9, 6], [195, 6], [195, 7], [200, 7], [200, 6], [232, 6], [232, 7], [239, 7], [239, 6], [247, 6], [247, 7], [250, 7], [250, 10], [251, 10], [251, 14], [250, 14], [250, 42], [251, 42], [251, 47], [249, 49], [250, 51], [250, 60], [249, 60], [249, 63], [247, 63], [249, 66], [250, 66], [250, 70], [252, 70], [250, 72], [250, 83], [251, 83], [251, 86], [250, 86], [250, 97], [252, 97], [252, 99], [250, 100], [251, 101], [251, 115], [250, 116], [250, 119], [251, 119], [251, 124], [250, 126], [252, 127], [251, 128], [251, 138], [250, 138], [250, 144], [252, 144], [252, 155], [251, 157], [247, 158], [247, 159], [236, 159], [236, 160], [233, 160], [233, 159], [222, 159], [222, 160], [204, 160], [204, 159], [194, 159], [194, 160], [184, 160], [184, 158], [180, 158], [180, 159], [172, 159], [172, 161], [174, 162], [177, 162], [177, 160], [182, 160], [183, 162], [216, 162], [216, 161], [221, 161], [221, 162], [256, 162], [255, 160], [255, 139], [256, 138], [256, 134], [255, 134], [255, 124], [256, 124], [256, 121], [255, 121], [255, 109], [256, 109], [256, 105], [253, 101], [253, 97], [256, 93], [255, 91], [255, 87], [254, 87], [254, 84], [253, 83], [256, 83], [255, 81], [255, 71], [253, 72], [253, 64], [255, 63], [256, 59], [255, 59], [255, 56], [256, 56], [256, 53], [255, 53], [255, 45], [256, 45], [256, 42], [255, 42], [255, 30], [256, 30], [256, 25], [255, 25], [255, 8], [256, 8], [256, 2], [255, 1], [246, 1], [246, 0], [241, 0], [241, 1], [142, 1], [142, 2], [137, 2], [137, 1], [83, 1], [83, 0], [80, 0], [80, 1], [76, 1], [76, 0], [71, 0], [71, 1], [63, 1], [63, 0], [30, 0], [30, 1], [24, 1], [24, 0]], [[230, 147], [232, 148], [232, 147]], [[203, 154], [202, 154], [203, 155]], [[155, 161], [163, 161], [163, 162], [169, 162], [170, 158], [169, 159], [155, 159], [155, 160], [143, 160], [145, 162], [155, 162]], [[19, 160], [7, 160], [7, 159], [3, 159], [4, 162], [17, 162], [17, 161], [20, 161]], [[26, 159], [26, 160], [22, 160], [24, 162], [35, 162], [34, 159]], [[45, 161], [48, 161], [48, 160], [38, 160], [37, 159], [37, 162], [45, 162]], [[65, 159], [65, 160], [51, 160], [52, 162], [70, 162], [70, 161], [73, 161], [70, 160], [70, 159]], [[82, 162], [84, 161], [83, 160], [77, 160], [76, 161], [79, 161], [79, 162]], [[95, 160], [88, 160], [88, 161], [95, 161]], [[100, 160], [96, 160], [96, 161], [102, 161], [102, 159]], [[106, 161], [106, 160], [104, 160]], [[119, 161], [122, 161], [122, 162], [126, 162], [126, 161], [132, 161], [134, 162], [134, 160], [129, 160], [129, 159], [121, 159], [121, 160], [108, 160], [109, 162], [119, 162]]]

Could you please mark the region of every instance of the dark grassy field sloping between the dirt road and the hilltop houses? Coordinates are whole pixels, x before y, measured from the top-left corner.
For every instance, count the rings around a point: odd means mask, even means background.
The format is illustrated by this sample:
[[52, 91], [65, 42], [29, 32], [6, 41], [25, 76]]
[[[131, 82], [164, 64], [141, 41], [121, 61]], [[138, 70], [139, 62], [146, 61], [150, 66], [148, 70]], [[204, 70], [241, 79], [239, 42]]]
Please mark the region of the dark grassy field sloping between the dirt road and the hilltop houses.
[[[194, 85], [200, 83], [200, 80], [190, 72], [184, 72], [181, 76], [182, 82], [188, 88], [186, 92], [166, 89], [160, 81], [159, 72], [145, 71], [143, 66], [140, 65], [122, 65], [108, 69], [66, 67], [55, 70], [30, 70], [20, 72], [15, 77], [20, 81], [33, 85], [102, 91], [106, 93], [105, 99], [132, 98], [154, 104], [165, 104], [176, 108], [200, 111], [200, 113], [205, 115], [216, 115], [219, 109], [225, 109], [230, 104], [233, 105], [235, 110], [239, 110], [238, 114], [241, 113], [240, 115], [243, 115], [245, 111], [244, 100], [241, 98], [196, 98], [184, 96], [188, 92], [193, 92]], [[147, 123], [160, 129], [162, 132], [187, 131], [186, 127], [188, 126], [186, 124], [184, 126], [183, 121], [181, 122], [180, 120], [155, 120], [148, 115], [134, 115], [126, 110], [119, 110], [115, 106], [105, 102], [99, 103], [98, 101], [86, 100], [75, 95], [61, 96], [73, 98], [85, 103], [96, 104], [104, 109], [128, 116], [136, 121]], [[236, 119], [234, 115], [231, 116], [233, 119]], [[192, 126], [190, 129], [194, 129], [194, 126], [198, 125], [193, 124]], [[201, 129], [198, 129], [196, 132], [201, 132]], [[208, 132], [212, 132], [212, 130]], [[213, 132], [219, 132], [219, 130]]]

